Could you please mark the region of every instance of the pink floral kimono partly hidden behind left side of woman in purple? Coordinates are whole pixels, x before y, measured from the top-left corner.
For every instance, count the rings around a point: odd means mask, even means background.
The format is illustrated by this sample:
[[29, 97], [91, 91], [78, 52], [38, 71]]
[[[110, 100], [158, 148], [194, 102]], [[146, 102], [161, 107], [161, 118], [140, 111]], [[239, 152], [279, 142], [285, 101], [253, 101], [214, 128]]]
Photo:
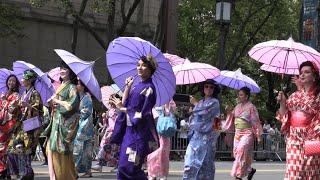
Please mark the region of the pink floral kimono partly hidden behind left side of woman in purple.
[[118, 165], [120, 148], [117, 144], [111, 144], [110, 139], [107, 138], [113, 133], [117, 116], [118, 111], [115, 108], [110, 108], [108, 111], [108, 128], [102, 137], [98, 153], [98, 164], [100, 166], [116, 167]]

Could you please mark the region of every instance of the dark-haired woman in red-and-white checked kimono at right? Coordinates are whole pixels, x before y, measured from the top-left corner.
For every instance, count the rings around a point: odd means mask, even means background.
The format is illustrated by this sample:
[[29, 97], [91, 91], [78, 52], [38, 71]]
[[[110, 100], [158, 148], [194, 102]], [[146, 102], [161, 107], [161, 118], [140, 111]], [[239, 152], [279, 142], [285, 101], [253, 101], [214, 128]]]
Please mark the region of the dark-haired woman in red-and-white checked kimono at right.
[[[279, 92], [277, 119], [286, 134], [285, 180], [319, 180], [320, 154], [306, 155], [305, 141], [320, 141], [320, 79], [318, 67], [310, 61], [299, 67], [298, 90], [286, 99]], [[297, 82], [297, 81], [296, 81]]]

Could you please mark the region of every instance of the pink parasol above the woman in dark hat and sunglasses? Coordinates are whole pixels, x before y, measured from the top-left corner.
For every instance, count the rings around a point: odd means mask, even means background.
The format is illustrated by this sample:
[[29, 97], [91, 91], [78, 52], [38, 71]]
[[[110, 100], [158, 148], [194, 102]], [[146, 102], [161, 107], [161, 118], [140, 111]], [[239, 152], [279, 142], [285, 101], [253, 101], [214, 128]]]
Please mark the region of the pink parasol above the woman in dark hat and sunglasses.
[[172, 69], [176, 76], [177, 85], [199, 83], [220, 75], [218, 68], [210, 64], [190, 62], [188, 59]]

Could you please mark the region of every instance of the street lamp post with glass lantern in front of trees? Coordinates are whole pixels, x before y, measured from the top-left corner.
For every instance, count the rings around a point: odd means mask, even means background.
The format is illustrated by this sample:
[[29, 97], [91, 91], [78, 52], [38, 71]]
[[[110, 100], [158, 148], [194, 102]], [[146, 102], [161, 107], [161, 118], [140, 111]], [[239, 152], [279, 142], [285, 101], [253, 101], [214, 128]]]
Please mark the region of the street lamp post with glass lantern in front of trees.
[[226, 37], [231, 22], [231, 1], [217, 0], [216, 1], [216, 23], [220, 26], [220, 39], [218, 48], [218, 68], [222, 68], [225, 62], [225, 46]]

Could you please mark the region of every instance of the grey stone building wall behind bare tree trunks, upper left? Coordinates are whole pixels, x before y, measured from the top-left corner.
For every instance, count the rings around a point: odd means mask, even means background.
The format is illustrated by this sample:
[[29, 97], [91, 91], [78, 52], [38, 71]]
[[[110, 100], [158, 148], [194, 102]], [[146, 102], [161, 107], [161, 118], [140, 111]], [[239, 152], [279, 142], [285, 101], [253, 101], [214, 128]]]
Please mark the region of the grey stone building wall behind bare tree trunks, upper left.
[[[12, 62], [15, 60], [30, 62], [43, 71], [56, 67], [60, 59], [53, 49], [71, 50], [72, 19], [53, 3], [41, 8], [33, 8], [27, 3], [27, 0], [5, 1], [15, 3], [24, 12], [23, 33], [25, 37], [19, 39], [0, 38], [0, 68], [11, 69]], [[157, 24], [160, 0], [142, 1], [143, 3], [137, 7], [132, 16], [126, 32], [129, 35], [150, 40]], [[75, 7], [79, 7], [80, 2], [80, 0], [74, 0]], [[132, 3], [132, 0], [130, 2]], [[116, 7], [120, 9], [119, 3]], [[116, 24], [119, 25], [119, 10], [116, 13]], [[95, 14], [88, 9], [85, 12], [85, 18], [103, 37], [106, 16]], [[83, 60], [96, 60], [95, 74], [99, 82], [105, 84], [107, 79], [105, 50], [83, 28], [79, 29], [76, 52], [77, 56]]]

